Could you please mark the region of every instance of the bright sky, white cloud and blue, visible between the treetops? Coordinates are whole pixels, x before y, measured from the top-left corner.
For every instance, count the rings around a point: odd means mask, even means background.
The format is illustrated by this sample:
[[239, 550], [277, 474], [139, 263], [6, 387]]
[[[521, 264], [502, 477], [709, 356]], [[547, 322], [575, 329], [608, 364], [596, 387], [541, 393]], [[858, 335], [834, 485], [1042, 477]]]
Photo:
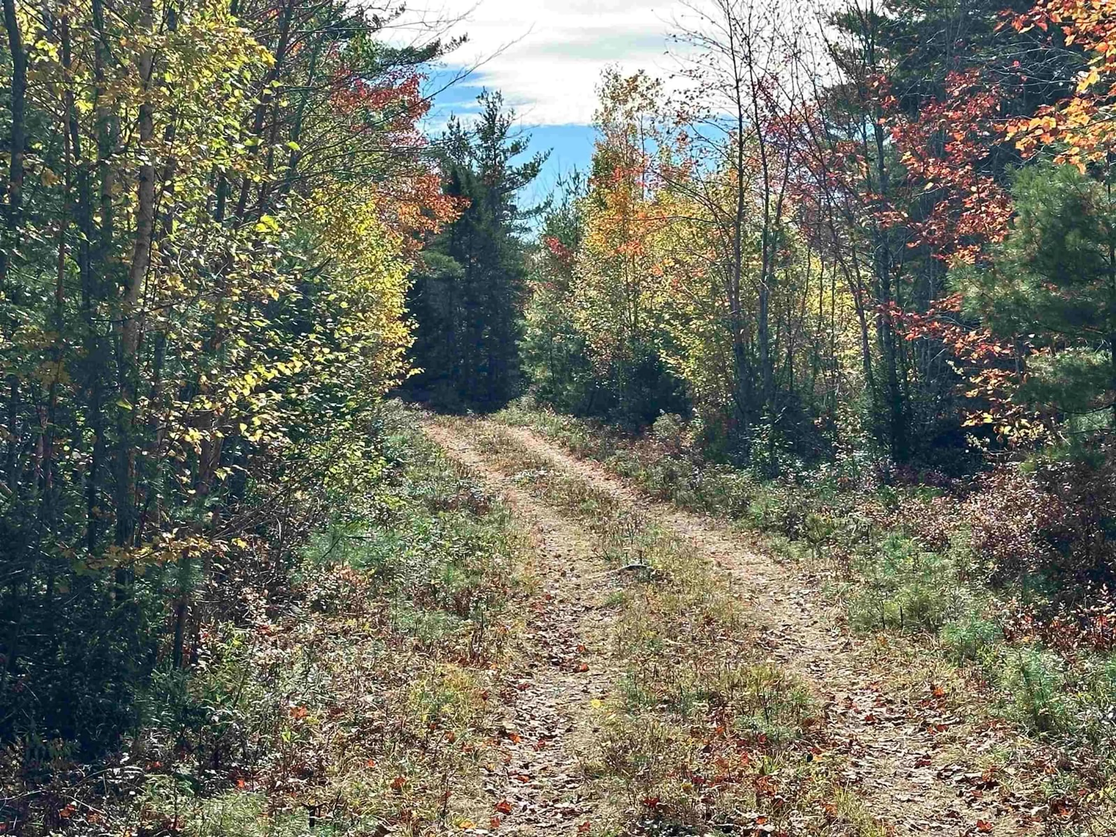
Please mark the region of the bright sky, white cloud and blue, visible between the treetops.
[[562, 174], [588, 166], [596, 85], [605, 67], [668, 74], [666, 32], [684, 7], [677, 0], [443, 0], [427, 13], [461, 17], [451, 32], [469, 37], [448, 57], [446, 73], [480, 65], [437, 97], [430, 129], [436, 132], [451, 112], [474, 112], [481, 89], [503, 93], [532, 150], [552, 150], [523, 195], [530, 203], [549, 194]]

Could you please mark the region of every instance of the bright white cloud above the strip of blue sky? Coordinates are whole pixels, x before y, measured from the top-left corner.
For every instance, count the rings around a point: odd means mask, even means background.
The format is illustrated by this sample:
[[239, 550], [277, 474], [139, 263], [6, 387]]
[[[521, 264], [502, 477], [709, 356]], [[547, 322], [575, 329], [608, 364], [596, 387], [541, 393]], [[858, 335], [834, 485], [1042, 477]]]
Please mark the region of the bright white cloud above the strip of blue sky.
[[501, 90], [523, 123], [585, 125], [605, 67], [667, 71], [666, 33], [679, 8], [674, 0], [444, 0], [446, 16], [472, 9], [453, 30], [469, 42], [446, 60], [491, 57], [468, 84]]

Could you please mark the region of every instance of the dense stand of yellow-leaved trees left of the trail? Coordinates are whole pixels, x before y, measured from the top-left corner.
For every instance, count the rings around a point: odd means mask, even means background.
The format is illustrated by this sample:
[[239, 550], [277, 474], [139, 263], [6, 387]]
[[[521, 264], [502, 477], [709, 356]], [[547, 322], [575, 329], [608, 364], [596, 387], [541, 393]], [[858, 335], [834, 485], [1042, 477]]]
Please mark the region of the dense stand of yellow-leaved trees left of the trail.
[[416, 128], [442, 45], [379, 42], [393, 16], [4, 3], [4, 743], [127, 730], [402, 377], [415, 242], [452, 213]]

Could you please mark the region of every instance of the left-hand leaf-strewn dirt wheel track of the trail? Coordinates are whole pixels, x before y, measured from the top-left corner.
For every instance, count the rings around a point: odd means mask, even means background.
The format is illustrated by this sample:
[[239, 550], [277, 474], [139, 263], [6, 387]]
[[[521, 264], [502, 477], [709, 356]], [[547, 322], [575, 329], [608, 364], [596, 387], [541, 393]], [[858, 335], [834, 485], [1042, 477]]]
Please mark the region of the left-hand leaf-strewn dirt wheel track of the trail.
[[593, 560], [594, 541], [583, 528], [490, 466], [466, 439], [440, 424], [426, 425], [426, 433], [504, 498], [529, 530], [539, 580], [521, 653], [499, 686], [503, 716], [493, 733], [503, 761], [492, 766], [484, 789], [500, 821], [466, 833], [498, 827], [501, 835], [579, 834], [606, 805], [587, 780], [583, 758], [596, 732], [590, 702], [606, 698], [617, 676], [604, 607], [613, 583]]

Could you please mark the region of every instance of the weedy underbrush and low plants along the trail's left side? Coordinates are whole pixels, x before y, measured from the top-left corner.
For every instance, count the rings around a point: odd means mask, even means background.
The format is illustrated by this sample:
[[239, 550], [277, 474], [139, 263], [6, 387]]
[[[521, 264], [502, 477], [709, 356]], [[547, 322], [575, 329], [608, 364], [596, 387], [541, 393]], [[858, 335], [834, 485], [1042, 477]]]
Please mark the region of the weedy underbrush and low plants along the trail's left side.
[[285, 584], [246, 584], [193, 665], [157, 667], [112, 759], [59, 750], [32, 777], [7, 750], [7, 831], [422, 835], [481, 817], [488, 690], [530, 579], [507, 510], [416, 423], [386, 412], [355, 441]]

